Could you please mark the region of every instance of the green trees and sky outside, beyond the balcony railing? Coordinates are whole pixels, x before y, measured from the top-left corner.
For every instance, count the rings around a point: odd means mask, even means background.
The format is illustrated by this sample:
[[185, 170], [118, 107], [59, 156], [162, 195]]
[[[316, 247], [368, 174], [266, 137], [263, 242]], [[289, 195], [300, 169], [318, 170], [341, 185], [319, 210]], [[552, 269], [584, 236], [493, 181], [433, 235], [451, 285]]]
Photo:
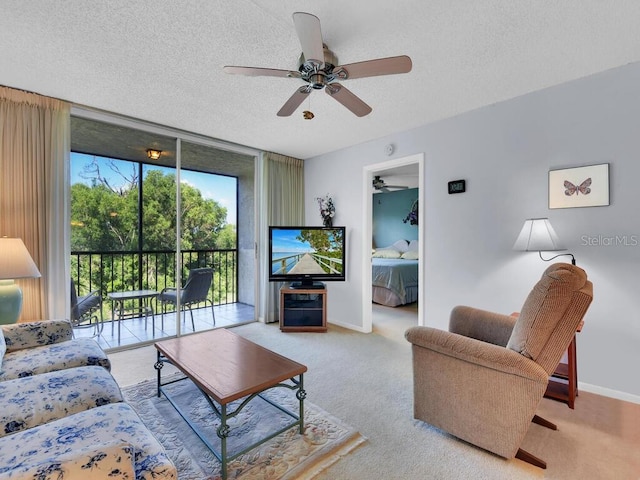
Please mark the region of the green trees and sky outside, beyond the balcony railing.
[[[71, 185], [71, 268], [81, 290], [104, 296], [175, 286], [175, 170], [86, 155], [75, 161], [83, 163], [82, 181]], [[236, 227], [216, 200], [188, 183], [180, 188], [181, 281], [191, 268], [213, 267], [214, 303], [235, 301]]]

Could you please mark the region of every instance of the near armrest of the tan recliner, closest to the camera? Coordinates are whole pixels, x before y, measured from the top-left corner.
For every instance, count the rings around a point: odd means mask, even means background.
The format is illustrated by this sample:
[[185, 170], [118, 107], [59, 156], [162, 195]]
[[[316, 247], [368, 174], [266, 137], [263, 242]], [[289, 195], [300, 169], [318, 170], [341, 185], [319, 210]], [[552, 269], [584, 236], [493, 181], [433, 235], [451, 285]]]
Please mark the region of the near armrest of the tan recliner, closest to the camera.
[[549, 375], [536, 362], [498, 345], [430, 327], [411, 327], [405, 338], [414, 346], [498, 372], [517, 375], [546, 385]]

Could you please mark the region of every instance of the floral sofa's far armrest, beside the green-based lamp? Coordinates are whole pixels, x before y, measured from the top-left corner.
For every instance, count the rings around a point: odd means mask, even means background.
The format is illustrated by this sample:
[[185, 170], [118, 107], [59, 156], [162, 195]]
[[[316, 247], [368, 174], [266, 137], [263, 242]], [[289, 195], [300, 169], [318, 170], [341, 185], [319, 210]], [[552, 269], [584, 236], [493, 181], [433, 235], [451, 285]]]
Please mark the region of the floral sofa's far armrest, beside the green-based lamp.
[[66, 342], [73, 338], [68, 320], [40, 320], [38, 322], [2, 325], [7, 352]]

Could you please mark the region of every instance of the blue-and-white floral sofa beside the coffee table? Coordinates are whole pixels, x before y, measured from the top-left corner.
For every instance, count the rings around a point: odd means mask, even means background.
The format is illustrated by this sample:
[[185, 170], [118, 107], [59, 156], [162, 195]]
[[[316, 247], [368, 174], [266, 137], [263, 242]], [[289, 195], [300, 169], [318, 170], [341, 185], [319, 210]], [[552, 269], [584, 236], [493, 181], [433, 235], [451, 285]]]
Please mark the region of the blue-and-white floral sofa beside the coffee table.
[[1, 333], [0, 479], [177, 478], [95, 340], [63, 320]]

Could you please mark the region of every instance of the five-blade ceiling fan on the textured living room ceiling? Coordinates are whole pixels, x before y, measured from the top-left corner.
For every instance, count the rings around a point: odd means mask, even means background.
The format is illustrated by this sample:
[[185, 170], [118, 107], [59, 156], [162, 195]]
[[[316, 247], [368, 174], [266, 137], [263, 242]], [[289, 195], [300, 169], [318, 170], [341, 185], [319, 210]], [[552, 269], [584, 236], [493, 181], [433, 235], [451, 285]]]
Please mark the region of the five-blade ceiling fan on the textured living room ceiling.
[[371, 113], [371, 107], [338, 81], [411, 71], [411, 59], [406, 55], [336, 66], [338, 59], [323, 43], [318, 17], [310, 13], [296, 12], [293, 14], [293, 24], [302, 46], [297, 71], [260, 67], [224, 67], [224, 71], [231, 74], [299, 78], [304, 81], [305, 85], [297, 88], [278, 111], [279, 117], [290, 116], [313, 90], [323, 88], [329, 96], [355, 115], [364, 117]]

